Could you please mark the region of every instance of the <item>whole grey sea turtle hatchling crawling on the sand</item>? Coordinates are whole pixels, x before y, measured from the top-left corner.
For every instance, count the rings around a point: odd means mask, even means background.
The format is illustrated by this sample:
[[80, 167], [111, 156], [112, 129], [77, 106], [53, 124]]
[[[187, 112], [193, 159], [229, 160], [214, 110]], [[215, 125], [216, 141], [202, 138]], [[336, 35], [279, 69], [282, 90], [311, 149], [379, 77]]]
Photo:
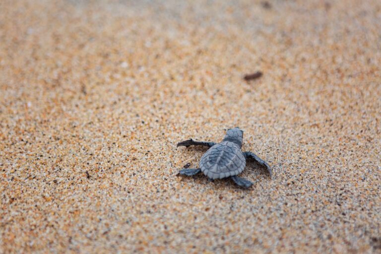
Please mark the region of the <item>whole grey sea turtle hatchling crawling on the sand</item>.
[[210, 147], [204, 155], [196, 169], [182, 169], [179, 174], [193, 176], [199, 172], [204, 173], [210, 179], [221, 179], [230, 177], [238, 186], [249, 188], [252, 182], [240, 178], [240, 174], [246, 166], [247, 159], [253, 159], [259, 165], [265, 167], [270, 173], [271, 169], [267, 162], [260, 159], [252, 152], [242, 152], [242, 140], [244, 131], [239, 127], [228, 129], [221, 143], [200, 142], [188, 139], [177, 144], [177, 146], [201, 145]]

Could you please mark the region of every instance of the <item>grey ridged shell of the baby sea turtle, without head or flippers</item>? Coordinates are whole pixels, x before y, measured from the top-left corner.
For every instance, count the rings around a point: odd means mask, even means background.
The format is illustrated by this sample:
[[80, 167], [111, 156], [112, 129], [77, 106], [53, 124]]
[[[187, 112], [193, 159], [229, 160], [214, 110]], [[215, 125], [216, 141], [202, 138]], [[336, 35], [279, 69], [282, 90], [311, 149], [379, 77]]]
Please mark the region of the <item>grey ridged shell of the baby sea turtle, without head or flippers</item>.
[[221, 179], [240, 174], [246, 166], [241, 149], [233, 142], [213, 145], [202, 155], [199, 168], [211, 179]]

